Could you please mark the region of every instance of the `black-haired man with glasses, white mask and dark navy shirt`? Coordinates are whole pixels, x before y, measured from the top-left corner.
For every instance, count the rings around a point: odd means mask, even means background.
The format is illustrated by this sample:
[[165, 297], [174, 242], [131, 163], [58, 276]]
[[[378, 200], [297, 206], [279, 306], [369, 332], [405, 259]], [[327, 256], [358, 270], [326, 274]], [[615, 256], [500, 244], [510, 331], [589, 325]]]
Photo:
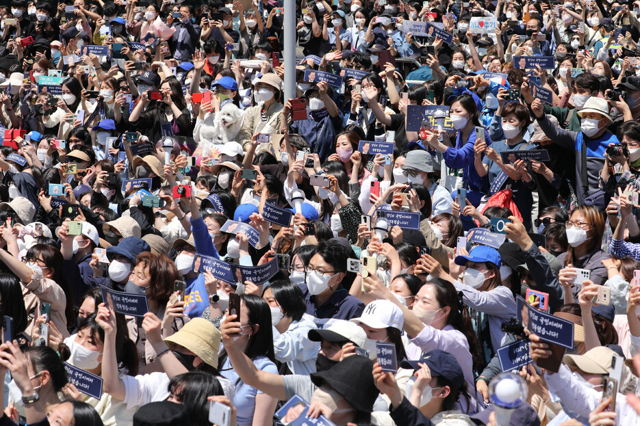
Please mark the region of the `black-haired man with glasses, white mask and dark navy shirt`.
[[307, 302], [307, 315], [313, 317], [318, 328], [331, 319], [357, 318], [364, 310], [364, 304], [342, 287], [347, 259], [354, 256], [346, 239], [335, 238], [318, 244], [311, 257], [306, 282], [300, 289]]

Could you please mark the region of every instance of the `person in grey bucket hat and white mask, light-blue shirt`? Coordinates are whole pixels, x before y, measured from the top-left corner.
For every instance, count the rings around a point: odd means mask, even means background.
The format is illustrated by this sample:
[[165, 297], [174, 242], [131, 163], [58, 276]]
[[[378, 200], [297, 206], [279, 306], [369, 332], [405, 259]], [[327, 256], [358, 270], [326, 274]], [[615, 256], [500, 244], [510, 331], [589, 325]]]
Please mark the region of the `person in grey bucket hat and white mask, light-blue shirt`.
[[407, 181], [413, 185], [423, 185], [431, 196], [431, 212], [433, 215], [451, 213], [453, 199], [444, 187], [436, 183], [437, 178], [433, 174], [433, 156], [427, 151], [418, 149], [410, 151], [402, 165], [402, 173], [407, 176]]

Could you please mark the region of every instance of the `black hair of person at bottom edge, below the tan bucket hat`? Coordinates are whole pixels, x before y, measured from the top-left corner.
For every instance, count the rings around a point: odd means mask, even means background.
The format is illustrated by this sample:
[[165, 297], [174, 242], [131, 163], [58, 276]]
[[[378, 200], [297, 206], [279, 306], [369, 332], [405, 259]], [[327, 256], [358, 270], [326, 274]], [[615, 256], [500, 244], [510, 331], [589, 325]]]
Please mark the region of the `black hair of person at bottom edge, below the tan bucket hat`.
[[173, 377], [168, 385], [189, 413], [192, 426], [209, 426], [209, 401], [212, 395], [225, 395], [218, 379], [205, 371], [189, 371]]

